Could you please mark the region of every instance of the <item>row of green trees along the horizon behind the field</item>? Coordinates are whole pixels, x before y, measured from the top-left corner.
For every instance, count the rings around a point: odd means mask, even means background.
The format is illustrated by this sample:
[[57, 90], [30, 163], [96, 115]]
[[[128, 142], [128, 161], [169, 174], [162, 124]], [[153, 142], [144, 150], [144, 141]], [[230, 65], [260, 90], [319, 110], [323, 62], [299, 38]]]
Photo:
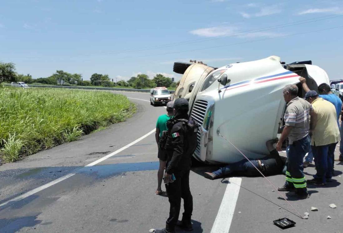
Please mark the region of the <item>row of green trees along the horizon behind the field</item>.
[[47, 85], [67, 85], [67, 86], [103, 86], [103, 87], [133, 87], [136, 89], [153, 87], [176, 87], [176, 83], [171, 78], [162, 74], [156, 74], [150, 79], [146, 74], [138, 74], [128, 81], [120, 80], [117, 83], [111, 82], [108, 74], [94, 73], [90, 81], [83, 80], [81, 74], [71, 74], [63, 70], [57, 70], [49, 77], [32, 78], [30, 74], [17, 74], [13, 63], [0, 62], [0, 83], [2, 82], [25, 82], [26, 84], [47, 84]]

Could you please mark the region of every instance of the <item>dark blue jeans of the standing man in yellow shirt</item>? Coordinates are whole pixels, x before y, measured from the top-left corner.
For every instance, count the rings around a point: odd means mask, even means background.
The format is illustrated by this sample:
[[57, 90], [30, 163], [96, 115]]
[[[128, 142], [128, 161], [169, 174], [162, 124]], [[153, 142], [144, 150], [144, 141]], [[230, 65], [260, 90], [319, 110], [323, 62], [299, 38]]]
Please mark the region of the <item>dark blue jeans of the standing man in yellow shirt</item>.
[[[313, 177], [326, 184], [333, 175], [334, 151], [337, 143], [324, 146], [311, 146], [315, 157], [317, 173]], [[318, 160], [317, 160], [318, 159]]]

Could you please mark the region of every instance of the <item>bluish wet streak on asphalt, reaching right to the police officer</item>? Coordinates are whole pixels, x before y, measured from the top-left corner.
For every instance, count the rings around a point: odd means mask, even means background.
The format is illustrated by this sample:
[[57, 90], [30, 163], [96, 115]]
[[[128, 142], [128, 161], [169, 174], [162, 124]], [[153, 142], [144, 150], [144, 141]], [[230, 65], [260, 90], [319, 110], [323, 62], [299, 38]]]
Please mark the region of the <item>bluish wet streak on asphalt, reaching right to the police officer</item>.
[[118, 175], [123, 172], [158, 170], [158, 167], [159, 162], [115, 163], [95, 165], [92, 168], [85, 167], [80, 169], [78, 173], [86, 173], [90, 175], [95, 174], [100, 177], [108, 177], [112, 175]]

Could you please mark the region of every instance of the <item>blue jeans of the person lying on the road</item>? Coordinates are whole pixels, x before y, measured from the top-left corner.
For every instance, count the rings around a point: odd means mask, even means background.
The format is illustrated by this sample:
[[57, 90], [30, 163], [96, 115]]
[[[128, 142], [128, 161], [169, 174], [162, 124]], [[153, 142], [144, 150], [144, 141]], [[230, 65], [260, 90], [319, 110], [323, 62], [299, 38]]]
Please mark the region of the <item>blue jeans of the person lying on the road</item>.
[[[251, 162], [259, 168], [257, 160], [251, 160]], [[233, 172], [247, 172], [248, 175], [258, 175], [260, 174], [256, 168], [249, 162], [241, 160], [239, 162], [227, 164], [225, 167], [212, 172], [215, 176], [229, 175]]]

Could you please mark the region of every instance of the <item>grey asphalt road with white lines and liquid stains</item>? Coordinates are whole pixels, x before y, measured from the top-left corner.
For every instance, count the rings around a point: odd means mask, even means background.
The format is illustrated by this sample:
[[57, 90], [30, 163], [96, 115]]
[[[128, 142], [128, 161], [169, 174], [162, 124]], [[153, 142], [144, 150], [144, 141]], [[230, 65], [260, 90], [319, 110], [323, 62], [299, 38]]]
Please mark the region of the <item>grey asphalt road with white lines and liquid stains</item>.
[[[151, 132], [166, 110], [151, 106], [147, 93], [120, 94], [138, 106], [128, 121], [0, 167], [0, 232], [140, 233], [164, 227], [169, 203], [155, 195], [158, 159]], [[301, 214], [310, 213], [307, 220], [263, 177], [211, 181], [202, 174], [215, 167], [193, 168], [193, 232], [343, 232], [343, 166], [335, 164], [333, 182], [309, 186], [309, 199], [289, 200]], [[308, 179], [315, 173], [313, 167], [305, 171]], [[283, 175], [268, 179], [275, 186], [284, 182]], [[310, 211], [312, 206], [319, 211]], [[283, 217], [296, 226], [273, 225]]]

